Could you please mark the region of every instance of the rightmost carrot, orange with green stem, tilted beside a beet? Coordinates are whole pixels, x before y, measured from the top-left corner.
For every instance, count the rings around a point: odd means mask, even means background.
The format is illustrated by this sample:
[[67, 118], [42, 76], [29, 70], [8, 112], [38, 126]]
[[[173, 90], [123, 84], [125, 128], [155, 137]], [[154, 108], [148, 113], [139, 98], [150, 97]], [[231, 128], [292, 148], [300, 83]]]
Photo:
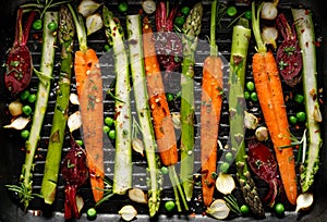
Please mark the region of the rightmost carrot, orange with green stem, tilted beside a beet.
[[255, 2], [252, 2], [252, 25], [257, 44], [257, 52], [253, 55], [252, 62], [253, 77], [264, 119], [274, 144], [282, 185], [288, 200], [295, 205], [298, 196], [295, 163], [283, 91], [275, 57], [271, 51], [267, 51], [261, 38], [261, 8], [262, 4], [256, 13]]

